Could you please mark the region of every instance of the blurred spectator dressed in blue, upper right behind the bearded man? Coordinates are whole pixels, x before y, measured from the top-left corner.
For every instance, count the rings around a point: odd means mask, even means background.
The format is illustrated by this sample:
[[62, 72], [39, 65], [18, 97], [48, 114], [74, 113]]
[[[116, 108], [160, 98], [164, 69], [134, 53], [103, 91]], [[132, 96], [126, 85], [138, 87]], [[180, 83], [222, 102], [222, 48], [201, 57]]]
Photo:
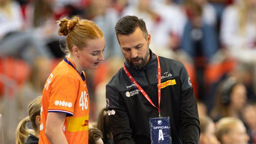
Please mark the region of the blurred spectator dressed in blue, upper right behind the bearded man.
[[205, 95], [205, 66], [217, 52], [216, 13], [207, 0], [186, 0], [183, 4], [187, 21], [183, 28], [180, 47], [194, 61], [198, 99]]

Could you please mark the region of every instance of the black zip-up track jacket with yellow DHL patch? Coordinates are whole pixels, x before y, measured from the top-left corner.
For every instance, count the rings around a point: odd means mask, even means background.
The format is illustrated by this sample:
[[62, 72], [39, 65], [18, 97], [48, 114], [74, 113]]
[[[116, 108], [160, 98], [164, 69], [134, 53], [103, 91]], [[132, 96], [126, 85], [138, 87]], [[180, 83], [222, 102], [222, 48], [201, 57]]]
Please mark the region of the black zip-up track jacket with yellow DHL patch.
[[[140, 70], [127, 61], [125, 66], [158, 107], [157, 59], [151, 50], [150, 57]], [[161, 86], [161, 117], [170, 117], [172, 144], [198, 144], [198, 110], [186, 68], [172, 59], [159, 56], [159, 60], [164, 85]], [[147, 101], [123, 68], [106, 85], [106, 100], [115, 144], [151, 144], [149, 118], [158, 117], [158, 109]]]

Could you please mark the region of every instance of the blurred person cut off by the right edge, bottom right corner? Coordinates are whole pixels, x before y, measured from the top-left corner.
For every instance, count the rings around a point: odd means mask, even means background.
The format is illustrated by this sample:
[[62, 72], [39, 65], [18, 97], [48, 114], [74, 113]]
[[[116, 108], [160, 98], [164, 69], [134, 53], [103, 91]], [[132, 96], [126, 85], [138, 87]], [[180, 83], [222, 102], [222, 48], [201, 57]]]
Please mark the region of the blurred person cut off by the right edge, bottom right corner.
[[249, 144], [256, 144], [256, 103], [248, 103], [244, 108], [243, 119], [250, 137]]

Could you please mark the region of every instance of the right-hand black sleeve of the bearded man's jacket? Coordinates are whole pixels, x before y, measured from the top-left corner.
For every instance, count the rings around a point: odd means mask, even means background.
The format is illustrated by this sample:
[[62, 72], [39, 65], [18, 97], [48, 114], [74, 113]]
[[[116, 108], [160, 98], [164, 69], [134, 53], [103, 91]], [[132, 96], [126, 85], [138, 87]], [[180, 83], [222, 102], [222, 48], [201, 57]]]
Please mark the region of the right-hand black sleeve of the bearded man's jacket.
[[180, 126], [182, 128], [183, 144], [199, 144], [200, 127], [198, 109], [194, 91], [186, 68], [180, 72], [181, 98], [180, 98]]

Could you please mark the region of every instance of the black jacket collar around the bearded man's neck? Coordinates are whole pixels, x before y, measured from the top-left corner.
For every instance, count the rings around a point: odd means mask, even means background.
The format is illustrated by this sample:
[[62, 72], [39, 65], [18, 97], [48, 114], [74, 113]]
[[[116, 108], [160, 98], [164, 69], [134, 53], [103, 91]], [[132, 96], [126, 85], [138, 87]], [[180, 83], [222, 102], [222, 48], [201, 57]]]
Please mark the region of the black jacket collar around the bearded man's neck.
[[144, 69], [147, 71], [147, 74], [150, 75], [152, 73], [157, 74], [157, 60], [155, 54], [149, 49], [150, 60], [149, 62], [141, 69], [136, 70], [133, 68], [132, 64], [128, 61], [125, 62], [125, 66], [127, 70], [131, 73], [132, 76], [145, 76]]

